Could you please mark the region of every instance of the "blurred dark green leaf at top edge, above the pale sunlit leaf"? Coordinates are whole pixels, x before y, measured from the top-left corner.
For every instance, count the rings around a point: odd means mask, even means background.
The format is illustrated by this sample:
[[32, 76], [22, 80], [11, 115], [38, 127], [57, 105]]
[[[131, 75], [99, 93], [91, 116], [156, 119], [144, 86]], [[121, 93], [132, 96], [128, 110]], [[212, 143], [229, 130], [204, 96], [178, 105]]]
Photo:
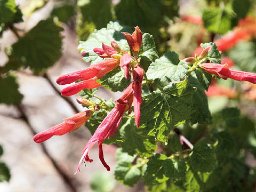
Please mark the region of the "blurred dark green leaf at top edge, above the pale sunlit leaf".
[[82, 21], [93, 22], [97, 29], [105, 27], [112, 19], [109, 0], [80, 0], [77, 4], [82, 13]]

